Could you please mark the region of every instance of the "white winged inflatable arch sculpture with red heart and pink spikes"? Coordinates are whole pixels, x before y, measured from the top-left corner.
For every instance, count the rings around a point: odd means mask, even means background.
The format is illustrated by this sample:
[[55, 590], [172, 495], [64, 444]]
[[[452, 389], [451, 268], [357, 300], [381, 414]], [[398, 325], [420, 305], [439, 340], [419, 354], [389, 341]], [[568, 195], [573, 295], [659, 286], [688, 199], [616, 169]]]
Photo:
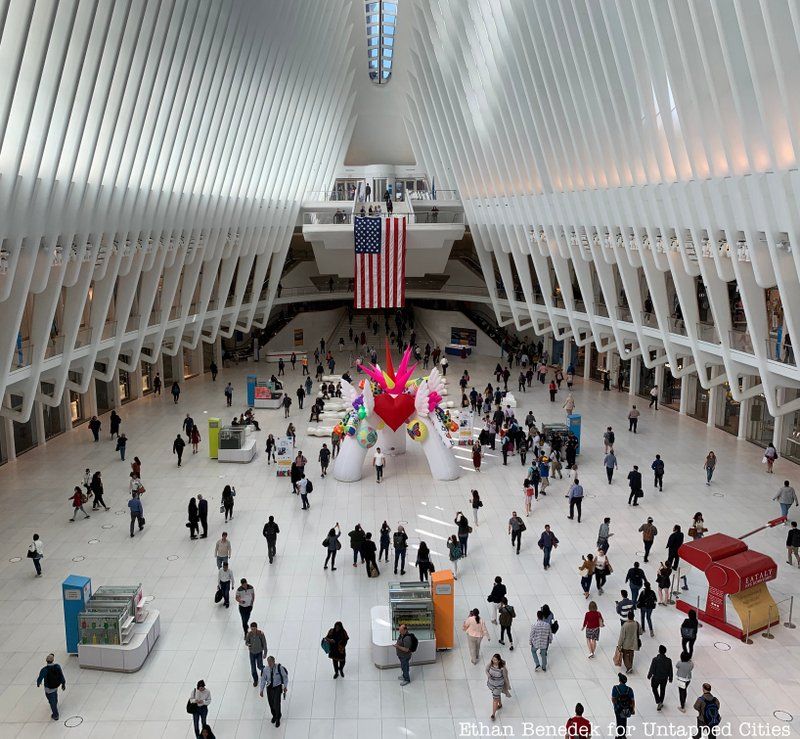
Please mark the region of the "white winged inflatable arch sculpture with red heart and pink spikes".
[[342, 381], [346, 410], [334, 431], [343, 441], [333, 467], [340, 482], [361, 479], [367, 450], [378, 446], [388, 454], [403, 454], [407, 438], [422, 447], [434, 479], [458, 479], [459, 467], [450, 453], [454, 444], [450, 434], [458, 424], [440, 407], [444, 382], [436, 369], [412, 380], [416, 364], [409, 366], [410, 358], [409, 348], [395, 372], [387, 345], [386, 370], [359, 365], [367, 378], [358, 388]]

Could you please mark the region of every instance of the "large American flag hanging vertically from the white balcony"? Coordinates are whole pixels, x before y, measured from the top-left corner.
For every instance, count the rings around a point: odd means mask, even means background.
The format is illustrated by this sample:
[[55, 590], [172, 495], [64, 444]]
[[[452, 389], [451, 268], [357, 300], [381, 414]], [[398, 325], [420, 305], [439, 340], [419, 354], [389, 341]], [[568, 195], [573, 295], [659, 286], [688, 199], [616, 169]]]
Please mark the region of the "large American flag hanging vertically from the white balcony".
[[402, 308], [406, 302], [406, 219], [356, 216], [356, 308]]

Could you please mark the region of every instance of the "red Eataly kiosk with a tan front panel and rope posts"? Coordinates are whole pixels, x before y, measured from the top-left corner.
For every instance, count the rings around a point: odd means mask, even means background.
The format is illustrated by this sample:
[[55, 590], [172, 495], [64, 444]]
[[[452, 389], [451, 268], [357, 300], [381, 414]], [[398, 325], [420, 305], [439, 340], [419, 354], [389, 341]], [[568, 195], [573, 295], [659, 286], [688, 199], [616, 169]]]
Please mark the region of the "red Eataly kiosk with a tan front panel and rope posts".
[[[775, 579], [778, 565], [772, 557], [752, 551], [742, 539], [784, 520], [777, 518], [738, 539], [711, 534], [681, 545], [678, 556], [705, 573], [708, 596], [705, 610], [697, 610], [684, 600], [677, 601], [677, 608], [684, 613], [695, 609], [701, 621], [742, 640], [777, 624], [778, 609], [766, 583]], [[727, 596], [739, 614], [741, 626], [727, 620]]]

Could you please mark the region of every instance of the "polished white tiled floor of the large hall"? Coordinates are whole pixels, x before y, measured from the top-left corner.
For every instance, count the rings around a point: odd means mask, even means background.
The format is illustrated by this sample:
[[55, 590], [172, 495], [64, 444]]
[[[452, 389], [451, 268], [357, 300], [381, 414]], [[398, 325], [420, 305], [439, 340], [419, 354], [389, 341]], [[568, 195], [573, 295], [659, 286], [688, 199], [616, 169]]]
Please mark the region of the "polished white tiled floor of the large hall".
[[[482, 388], [494, 362], [454, 360], [449, 372], [453, 383], [466, 364], [475, 384]], [[639, 525], [648, 515], [660, 529], [654, 553], [663, 552], [667, 533], [674, 523], [684, 530], [692, 514], [702, 510], [712, 531], [740, 535], [778, 515], [771, 502], [779, 483], [788, 477], [800, 483], [800, 468], [780, 460], [776, 474], [764, 474], [761, 451], [715, 429], [671, 410], [644, 411], [636, 436], [626, 432], [627, 394], [602, 392], [598, 384], [578, 381], [577, 410], [583, 414], [583, 452], [580, 477], [588, 497], [584, 520], [568, 521], [567, 481], [556, 481], [551, 494], [535, 507], [528, 520], [522, 555], [513, 554], [506, 536], [506, 522], [513, 508], [522, 508], [522, 471], [516, 457], [501, 465], [499, 452], [487, 457], [480, 474], [464, 461], [464, 476], [451, 483], [433, 482], [424, 458], [413, 445], [402, 458], [390, 459], [385, 484], [366, 479], [360, 484], [321, 480], [315, 461], [309, 465], [315, 483], [310, 512], [300, 510], [299, 500], [289, 494], [289, 485], [267, 467], [263, 453], [249, 465], [220, 465], [206, 454], [185, 455], [178, 469], [171, 443], [186, 412], [204, 426], [207, 415], [230, 415], [222, 389], [233, 382], [234, 406], [244, 400], [245, 375], [253, 365], [224, 370], [217, 382], [210, 377], [184, 383], [180, 404], [170, 397], [147, 398], [121, 409], [123, 428], [129, 437], [128, 458], [143, 462], [147, 486], [144, 506], [147, 527], [135, 539], [128, 536], [126, 480], [128, 463], [119, 461], [114, 444], [107, 438], [93, 444], [84, 428], [68, 433], [0, 468], [0, 736], [2, 737], [186, 737], [192, 734], [184, 710], [186, 699], [198, 679], [209, 686], [213, 702], [209, 721], [221, 739], [232, 737], [413, 737], [437, 739], [464, 735], [461, 722], [488, 723], [491, 712], [483, 665], [472, 666], [460, 630], [456, 648], [439, 656], [437, 664], [413, 670], [413, 682], [400, 688], [396, 670], [377, 670], [369, 655], [369, 610], [386, 602], [386, 587], [392, 575], [383, 568], [377, 580], [368, 580], [363, 568], [353, 569], [342, 551], [337, 572], [324, 572], [320, 541], [335, 521], [347, 532], [360, 521], [377, 531], [386, 519], [393, 526], [405, 521], [414, 541], [424, 537], [438, 553], [437, 567], [447, 565], [441, 554], [444, 538], [453, 532], [455, 511], [467, 507], [472, 486], [481, 491], [485, 506], [481, 525], [470, 539], [468, 559], [463, 561], [457, 583], [457, 619], [479, 607], [488, 614], [486, 595], [495, 575], [502, 575], [509, 597], [516, 606], [515, 631], [518, 648], [501, 650], [508, 659], [513, 697], [505, 701], [498, 724], [523, 735], [524, 722], [563, 725], [576, 701], [586, 715], [607, 731], [613, 713], [609, 693], [617, 670], [611, 657], [617, 626], [614, 599], [624, 572], [641, 549]], [[294, 391], [300, 369], [288, 383]], [[532, 408], [540, 421], [560, 420], [562, 400], [551, 404], [543, 387], [524, 396], [520, 417]], [[646, 405], [639, 399], [640, 406]], [[300, 436], [298, 447], [316, 460], [321, 439], [306, 438], [307, 411], [296, 408], [292, 416]], [[283, 412], [261, 411], [259, 451], [267, 431], [283, 433]], [[619, 480], [609, 487], [602, 467], [602, 430], [612, 424], [617, 430], [620, 460]], [[205, 437], [205, 433], [203, 434]], [[716, 450], [719, 465], [711, 488], [705, 486], [701, 469], [706, 451]], [[653, 455], [666, 461], [665, 488], [656, 493], [647, 486], [638, 511], [627, 506], [625, 474], [638, 463], [649, 469]], [[465, 460], [466, 451], [455, 452]], [[88, 521], [68, 523], [67, 496], [81, 478], [84, 467], [101, 469], [106, 481], [106, 500], [112, 510], [96, 512]], [[647, 475], [645, 475], [647, 479]], [[224, 483], [233, 483], [235, 518], [224, 528], [233, 545], [232, 569], [237, 578], [247, 577], [256, 587], [253, 618], [264, 628], [269, 649], [290, 672], [291, 688], [280, 729], [269, 722], [265, 700], [251, 685], [247, 653], [242, 644], [238, 611], [215, 606], [216, 571], [212, 557], [214, 541], [223, 529], [218, 513]], [[186, 505], [191, 495], [202, 492], [211, 500], [209, 538], [190, 541], [184, 527]], [[124, 512], [124, 515], [120, 512]], [[118, 515], [119, 514], [119, 515]], [[261, 528], [269, 514], [276, 517], [281, 535], [278, 556], [269, 565]], [[594, 550], [597, 527], [604, 515], [613, 519], [609, 556], [616, 573], [606, 593], [593, 596], [606, 617], [597, 659], [586, 659], [580, 632], [585, 601], [580, 592], [577, 567], [581, 553]], [[552, 524], [561, 546], [548, 572], [541, 567], [535, 546], [544, 523]], [[31, 534], [44, 541], [44, 577], [35, 579], [25, 559]], [[780, 563], [778, 579], [771, 584], [776, 599], [798, 594], [800, 571], [784, 564], [785, 529], [766, 531], [748, 540]], [[96, 544], [89, 540], [99, 539]], [[170, 555], [178, 559], [169, 561]], [[74, 557], [84, 557], [79, 563]], [[12, 563], [9, 560], [22, 557]], [[647, 567], [647, 566], [646, 566]], [[652, 568], [649, 574], [654, 576]], [[154, 653], [136, 674], [121, 675], [82, 671], [76, 658], [64, 652], [64, 629], [60, 583], [70, 574], [88, 575], [96, 586], [141, 581], [155, 596], [161, 611], [162, 633]], [[407, 577], [416, 575], [409, 568]], [[690, 574], [690, 597], [702, 593], [703, 578]], [[561, 630], [550, 650], [550, 669], [533, 672], [527, 649], [527, 632], [537, 608], [549, 603]], [[785, 605], [785, 604], [784, 604]], [[782, 614], [785, 620], [786, 610]], [[666, 706], [657, 713], [649, 685], [647, 665], [659, 643], [677, 659], [682, 615], [673, 608], [658, 608], [654, 614], [656, 638], [643, 637], [630, 685], [635, 689], [638, 715], [631, 725], [644, 734], [645, 722], [678, 727], [693, 725], [693, 715], [677, 710], [677, 688], [668, 690]], [[335, 620], [350, 633], [347, 677], [331, 679], [329, 660], [319, 648], [321, 636]], [[492, 642], [483, 656], [497, 649], [499, 635], [491, 627]], [[740, 722], [759, 726], [786, 727], [797, 735], [800, 718], [784, 724], [773, 718], [779, 710], [800, 714], [800, 638], [798, 631], [778, 628], [775, 639], [760, 636], [751, 646], [734, 641], [709, 627], [701, 630], [695, 650], [695, 676], [690, 700], [708, 680], [722, 701], [722, 715], [730, 721], [732, 736], [747, 735]], [[715, 643], [717, 644], [715, 646]], [[721, 651], [718, 647], [730, 647]], [[45, 655], [54, 651], [64, 667], [68, 689], [61, 697], [60, 723], [51, 722], [42, 690], [34, 687]], [[83, 723], [66, 728], [63, 721], [79, 716]], [[607, 734], [602, 734], [607, 735]]]

